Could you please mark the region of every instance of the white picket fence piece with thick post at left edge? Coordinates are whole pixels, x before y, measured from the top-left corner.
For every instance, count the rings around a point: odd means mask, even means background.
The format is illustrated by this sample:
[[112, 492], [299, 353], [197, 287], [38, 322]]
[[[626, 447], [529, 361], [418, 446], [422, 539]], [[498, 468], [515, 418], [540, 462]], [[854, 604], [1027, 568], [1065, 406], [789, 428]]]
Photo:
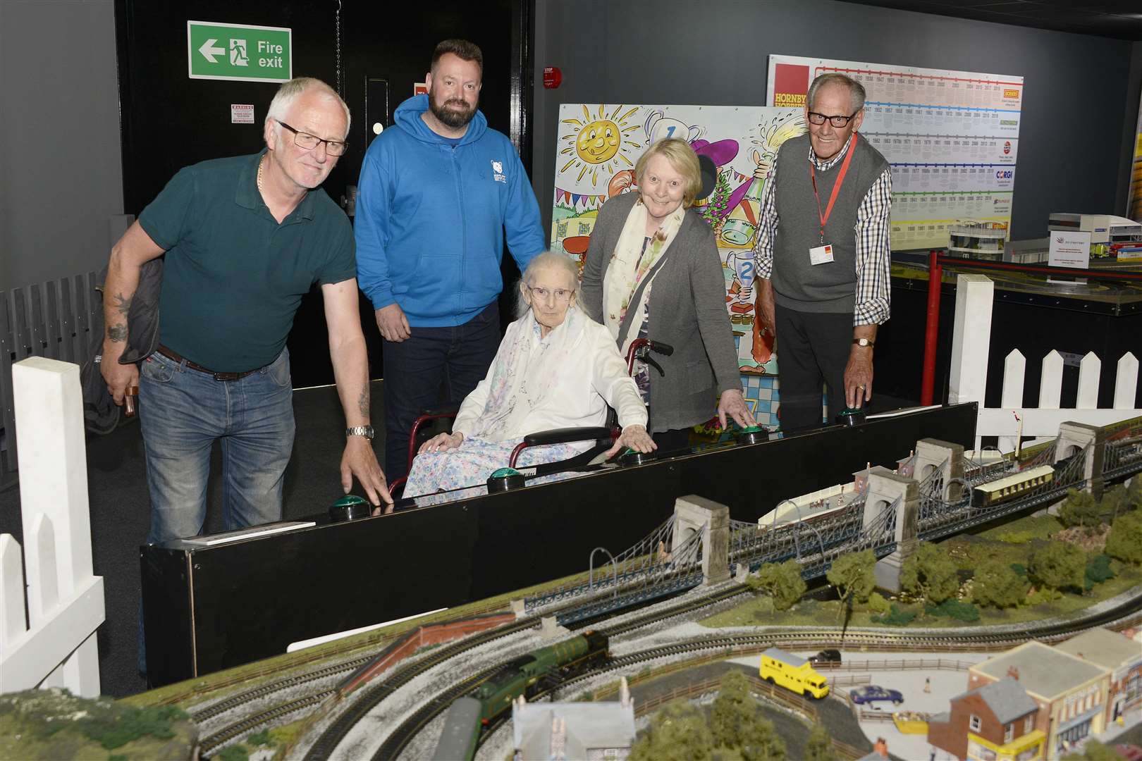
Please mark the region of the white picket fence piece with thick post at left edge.
[[103, 577], [91, 575], [79, 365], [30, 357], [11, 377], [24, 552], [0, 535], [0, 693], [66, 687], [95, 697], [104, 597]]

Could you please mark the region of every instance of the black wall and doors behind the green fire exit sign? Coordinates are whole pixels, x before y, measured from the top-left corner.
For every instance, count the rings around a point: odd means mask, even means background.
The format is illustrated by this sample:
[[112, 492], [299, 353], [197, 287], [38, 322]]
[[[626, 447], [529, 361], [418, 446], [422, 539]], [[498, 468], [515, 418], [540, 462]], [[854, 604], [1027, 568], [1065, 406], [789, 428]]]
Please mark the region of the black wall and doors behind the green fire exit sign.
[[[187, 19], [289, 27], [293, 75], [316, 76], [335, 88], [340, 82], [353, 123], [349, 152], [324, 185], [336, 201], [343, 199], [347, 185], [356, 183], [371, 123], [392, 123], [393, 111], [412, 95], [412, 84], [424, 81], [435, 44], [450, 37], [469, 39], [483, 49], [480, 107], [493, 129], [514, 136], [518, 144], [524, 133], [526, 81], [520, 72], [530, 71], [530, 62], [523, 63], [531, 18], [528, 2], [443, 0], [394, 6], [344, 0], [339, 65], [338, 5], [336, 0], [116, 0], [126, 211], [137, 214], [187, 164], [255, 153], [263, 146], [262, 123], [278, 84], [188, 79]], [[388, 88], [387, 107], [376, 96], [370, 98], [368, 120], [367, 78], [386, 80]], [[232, 103], [252, 103], [256, 123], [231, 124]], [[442, 212], [442, 220], [447, 214]], [[371, 374], [378, 377], [383, 374], [380, 341], [371, 305], [363, 298], [361, 313], [370, 339]], [[332, 382], [316, 290], [298, 311], [289, 349], [295, 386]]]

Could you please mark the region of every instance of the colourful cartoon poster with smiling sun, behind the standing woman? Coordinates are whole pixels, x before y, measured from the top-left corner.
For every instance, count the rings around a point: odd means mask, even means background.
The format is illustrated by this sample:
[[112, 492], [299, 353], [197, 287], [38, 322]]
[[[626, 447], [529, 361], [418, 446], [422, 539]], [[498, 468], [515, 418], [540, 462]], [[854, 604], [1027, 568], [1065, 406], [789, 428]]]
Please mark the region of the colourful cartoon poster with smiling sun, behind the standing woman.
[[769, 377], [777, 374], [777, 354], [772, 329], [755, 319], [753, 248], [762, 191], [778, 148], [804, 131], [801, 108], [560, 107], [550, 243], [553, 251], [565, 251], [580, 262], [600, 207], [611, 196], [637, 189], [635, 162], [651, 143], [662, 137], [684, 138], [717, 167], [714, 191], [695, 208], [717, 240], [742, 386], [763, 423], [777, 422], [769, 414], [775, 397], [775, 384]]

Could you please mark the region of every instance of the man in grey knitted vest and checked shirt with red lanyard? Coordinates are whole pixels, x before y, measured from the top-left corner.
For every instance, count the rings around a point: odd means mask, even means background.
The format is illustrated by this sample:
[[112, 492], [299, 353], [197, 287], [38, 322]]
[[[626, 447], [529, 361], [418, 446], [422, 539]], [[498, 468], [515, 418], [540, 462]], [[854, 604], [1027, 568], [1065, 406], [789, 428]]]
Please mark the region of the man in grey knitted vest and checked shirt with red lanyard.
[[[888, 162], [858, 135], [864, 88], [821, 74], [809, 88], [809, 133], [787, 140], [762, 196], [757, 309], [775, 327], [781, 428], [821, 423], [872, 396], [872, 347], [888, 319]], [[775, 313], [775, 314], [774, 314]]]

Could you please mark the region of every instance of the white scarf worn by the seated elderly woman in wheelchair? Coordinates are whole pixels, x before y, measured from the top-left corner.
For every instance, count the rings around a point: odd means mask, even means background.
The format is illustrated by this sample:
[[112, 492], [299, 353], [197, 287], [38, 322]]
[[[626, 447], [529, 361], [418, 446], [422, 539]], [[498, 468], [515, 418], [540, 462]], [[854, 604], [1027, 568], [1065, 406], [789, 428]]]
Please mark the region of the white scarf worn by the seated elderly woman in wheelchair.
[[498, 443], [531, 432], [522, 430], [524, 420], [545, 403], [588, 319], [577, 305], [571, 305], [563, 322], [542, 339], [530, 309], [508, 325], [492, 363], [488, 402], [476, 419], [473, 437]]

